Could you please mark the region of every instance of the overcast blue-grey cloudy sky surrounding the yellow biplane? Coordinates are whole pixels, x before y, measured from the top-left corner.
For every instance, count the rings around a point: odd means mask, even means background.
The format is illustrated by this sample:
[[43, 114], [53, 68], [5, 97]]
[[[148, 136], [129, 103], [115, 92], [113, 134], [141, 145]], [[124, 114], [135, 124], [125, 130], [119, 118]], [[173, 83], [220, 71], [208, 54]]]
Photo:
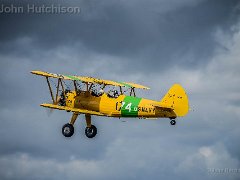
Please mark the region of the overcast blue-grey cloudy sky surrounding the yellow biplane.
[[[239, 1], [0, 2], [81, 9], [0, 13], [0, 179], [240, 179]], [[93, 139], [81, 115], [65, 138], [71, 114], [39, 106], [50, 95], [31, 70], [141, 83], [155, 100], [180, 83], [191, 111], [176, 126], [92, 117]]]

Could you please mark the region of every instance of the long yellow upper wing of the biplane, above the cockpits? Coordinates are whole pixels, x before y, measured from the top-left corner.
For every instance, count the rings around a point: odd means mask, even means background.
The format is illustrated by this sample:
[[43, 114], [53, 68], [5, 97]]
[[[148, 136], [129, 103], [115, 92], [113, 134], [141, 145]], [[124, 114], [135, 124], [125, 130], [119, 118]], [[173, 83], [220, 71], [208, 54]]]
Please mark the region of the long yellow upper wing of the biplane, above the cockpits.
[[117, 82], [117, 81], [104, 80], [104, 79], [98, 79], [98, 78], [86, 77], [86, 76], [54, 74], [54, 73], [48, 73], [43, 71], [31, 71], [31, 73], [39, 76], [61, 78], [61, 79], [73, 80], [73, 81], [81, 81], [84, 83], [97, 83], [97, 84], [112, 85], [112, 86], [124, 86], [124, 87], [139, 88], [139, 89], [150, 89], [140, 84], [129, 83], [129, 82]]

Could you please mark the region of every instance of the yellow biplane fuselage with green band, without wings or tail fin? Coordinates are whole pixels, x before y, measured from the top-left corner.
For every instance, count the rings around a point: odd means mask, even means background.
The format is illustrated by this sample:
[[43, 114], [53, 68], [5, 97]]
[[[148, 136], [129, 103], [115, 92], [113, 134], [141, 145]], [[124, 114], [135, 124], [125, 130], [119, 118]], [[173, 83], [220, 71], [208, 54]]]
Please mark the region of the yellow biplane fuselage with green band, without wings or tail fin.
[[110, 117], [176, 117], [176, 114], [169, 109], [163, 110], [153, 106], [159, 102], [134, 96], [119, 95], [113, 98], [104, 93], [96, 97], [88, 91], [79, 94], [71, 91], [66, 97], [67, 107], [96, 111]]

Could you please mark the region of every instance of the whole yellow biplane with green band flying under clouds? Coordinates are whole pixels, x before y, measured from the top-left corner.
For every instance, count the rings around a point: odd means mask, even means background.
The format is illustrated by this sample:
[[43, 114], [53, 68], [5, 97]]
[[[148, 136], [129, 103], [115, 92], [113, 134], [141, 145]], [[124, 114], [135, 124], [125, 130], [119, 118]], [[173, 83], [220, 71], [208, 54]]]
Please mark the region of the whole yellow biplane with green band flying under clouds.
[[[189, 110], [188, 97], [179, 84], [174, 84], [161, 101], [153, 101], [136, 97], [135, 89], [149, 89], [140, 84], [43, 71], [31, 73], [44, 76], [47, 80], [52, 103], [41, 106], [72, 112], [70, 122], [62, 127], [62, 134], [65, 137], [74, 134], [74, 123], [79, 114], [85, 114], [85, 135], [93, 138], [97, 134], [97, 128], [91, 123], [92, 115], [143, 119], [169, 118], [171, 125], [175, 125], [175, 119], [185, 116]], [[52, 78], [57, 81], [55, 94], [50, 82], [51, 80], [54, 83]], [[67, 87], [66, 80], [72, 82], [72, 90]], [[106, 91], [108, 87], [111, 89]]]

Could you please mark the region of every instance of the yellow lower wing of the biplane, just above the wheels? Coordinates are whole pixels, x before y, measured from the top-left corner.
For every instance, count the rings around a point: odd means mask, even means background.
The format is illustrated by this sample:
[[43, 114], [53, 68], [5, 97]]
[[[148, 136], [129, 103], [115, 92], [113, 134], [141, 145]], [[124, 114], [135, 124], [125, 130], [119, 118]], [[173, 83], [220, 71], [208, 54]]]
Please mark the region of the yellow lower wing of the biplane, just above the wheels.
[[46, 107], [46, 108], [51, 108], [51, 109], [59, 109], [59, 110], [77, 112], [77, 113], [81, 113], [81, 114], [91, 114], [91, 115], [96, 115], [96, 116], [104, 116], [104, 114], [96, 112], [96, 111], [90, 111], [90, 110], [79, 109], [79, 108], [70, 108], [70, 107], [58, 106], [58, 105], [54, 105], [54, 104], [41, 104], [40, 106], [43, 106], [43, 107]]

